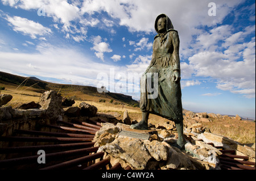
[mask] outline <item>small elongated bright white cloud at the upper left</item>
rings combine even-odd
[[[52,33],[51,29],[44,27],[42,24],[19,16],[11,17],[7,15],[6,20],[10,22],[10,26],[13,27],[14,31],[30,35],[32,39],[36,39],[38,35],[42,36]]]

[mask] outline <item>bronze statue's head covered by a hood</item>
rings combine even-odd
[[[155,20],[155,31],[159,34],[170,29],[174,29],[170,18],[165,14],[160,14]]]

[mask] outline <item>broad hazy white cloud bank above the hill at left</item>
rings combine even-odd
[[[125,70],[121,66],[106,65],[89,60],[75,47],[55,47],[48,43],[37,46],[39,53],[0,52],[0,71],[26,73],[40,77],[69,80],[67,83],[97,86],[97,74],[109,74],[111,68]],[[79,66],[77,66],[79,65]],[[73,74],[69,74],[73,72]]]

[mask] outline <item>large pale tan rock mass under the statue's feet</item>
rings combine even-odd
[[[158,136],[151,136],[150,140],[141,140],[121,136],[118,133],[129,128],[129,125],[118,123],[117,125],[103,123],[100,131],[96,133],[94,146],[101,146],[98,151],[104,151],[105,157],[111,158],[111,163],[119,162],[122,167],[130,166],[133,169],[189,169],[198,168],[218,169],[218,155],[220,151],[211,145],[196,146],[188,141],[187,148],[196,154],[191,157],[189,151],[180,151],[172,146],[176,141],[176,135],[159,140]],[[166,130],[166,129],[165,129]],[[192,149],[194,148],[194,149]],[[217,151],[217,152],[216,152]]]

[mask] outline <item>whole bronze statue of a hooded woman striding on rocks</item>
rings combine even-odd
[[[183,113],[180,88],[179,35],[170,18],[160,14],[155,20],[155,36],[153,54],[150,65],[141,78],[142,120],[131,125],[133,129],[148,129],[150,113],[174,121],[179,138],[177,147],[183,148]],[[154,78],[152,75],[158,75]],[[158,82],[154,82],[158,81]],[[152,85],[157,85],[152,92]],[[156,96],[152,96],[152,94]]]

